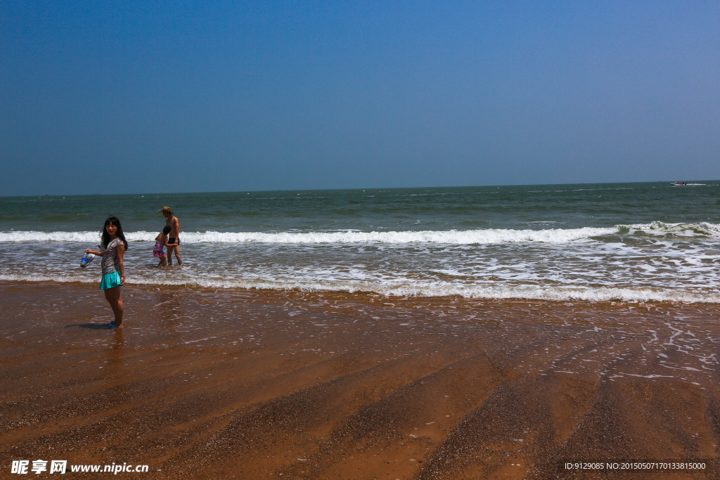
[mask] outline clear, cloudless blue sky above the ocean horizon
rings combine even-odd
[[[0,2],[0,195],[717,178],[717,0]]]

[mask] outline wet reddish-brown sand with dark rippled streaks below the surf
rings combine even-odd
[[[148,479],[719,476],[716,305],[123,298],[105,330],[94,285],[0,282],[0,476],[38,458]],[[708,466],[561,468],[690,459]]]

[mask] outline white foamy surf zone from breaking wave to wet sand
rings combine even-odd
[[[153,268],[156,235],[127,234],[135,243],[125,255],[132,283],[720,303],[720,225],[707,222],[546,230],[183,232],[186,264],[171,275]],[[94,283],[99,264],[83,270],[78,262],[82,249],[98,241],[97,232],[0,232],[0,279]],[[43,261],[28,262],[28,255],[42,255]]]

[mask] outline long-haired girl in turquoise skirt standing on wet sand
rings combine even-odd
[[[102,281],[100,289],[105,291],[105,299],[115,315],[114,322],[109,322],[109,328],[122,327],[122,298],[120,286],[125,284],[125,267],[122,265],[122,255],[127,250],[127,240],[122,233],[120,220],[112,215],[105,220],[100,232],[102,243],[100,251],[85,250],[86,253],[102,256]]]

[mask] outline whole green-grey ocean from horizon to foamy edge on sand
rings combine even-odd
[[[99,283],[110,214],[127,284],[720,303],[720,181],[0,197],[0,280]]]

